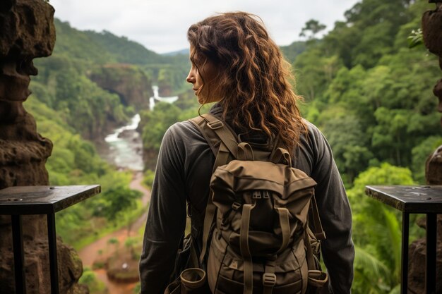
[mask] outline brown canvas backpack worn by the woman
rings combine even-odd
[[[328,280],[318,262],[325,234],[316,182],[282,147],[253,149],[211,114],[190,121],[216,152],[200,255],[211,292],[315,293]]]

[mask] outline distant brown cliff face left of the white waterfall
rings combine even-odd
[[[153,97],[152,83],[137,66],[109,64],[95,68],[90,79],[104,90],[119,95],[125,106],[134,106],[136,111],[148,109],[149,98]]]

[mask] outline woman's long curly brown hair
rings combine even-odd
[[[207,59],[220,68],[217,84],[223,118],[229,113],[237,128],[248,126],[270,137],[279,134],[289,151],[299,145],[306,131],[297,107],[301,97],[294,94],[290,65],[261,18],[245,12],[221,13],[191,25],[187,38],[196,66],[196,59]]]

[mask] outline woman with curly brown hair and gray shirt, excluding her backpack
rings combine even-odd
[[[290,71],[261,21],[249,13],[222,13],[191,25],[191,83],[200,104],[223,118],[241,139],[268,142],[274,134],[287,146],[294,167],[311,176],[327,239],[322,254],[330,293],[350,293],[354,247],[351,212],[332,153],[320,131],[301,118]],[[214,155],[189,121],[167,130],[157,162],[141,255],[141,293],[162,293],[191,207],[193,238],[201,248],[201,219],[209,195]],[[204,266],[204,265],[203,265]]]

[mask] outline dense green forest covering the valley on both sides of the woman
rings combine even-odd
[[[301,113],[327,137],[352,204],[354,293],[395,293],[400,281],[400,249],[395,247],[400,218],[369,200],[364,185],[425,183],[426,158],[442,145],[441,115],[432,93],[441,76],[438,61],[423,46],[410,49],[407,42],[420,27],[422,13],[434,8],[427,2],[362,0],[323,37],[317,37],[323,25],[309,20],[304,41],[281,47],[293,66],[294,89],[304,97]],[[160,86],[160,95],[179,95],[174,104],[141,111],[143,151],[152,169],[167,128],[196,116],[199,106],[184,80],[186,54],[160,55],[112,32],[81,32],[60,20],[55,25],[54,54],[35,62],[40,73],[32,78],[33,94],[25,107],[40,133],[54,142],[47,162],[51,183],[101,183],[104,191],[100,200],[58,216],[59,231],[70,238],[72,226],[85,226],[90,216],[121,218],[120,209],[133,208],[137,197],[127,188],[128,174],[100,159],[93,141],[129,121],[138,106],[100,87],[92,76],[125,75],[118,80],[143,80],[149,87]],[[120,71],[112,72],[116,68]],[[119,202],[124,205],[116,207]],[[412,228],[412,235],[422,231]]]

